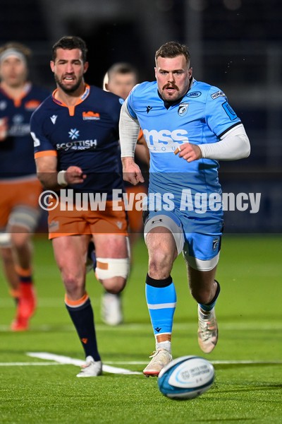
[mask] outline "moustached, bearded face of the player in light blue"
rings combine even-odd
[[[192,68],[188,67],[183,55],[158,57],[155,75],[161,97],[168,102],[174,102],[187,93]]]

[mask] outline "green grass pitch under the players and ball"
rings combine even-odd
[[[154,350],[145,302],[147,251],[142,238],[134,249],[133,269],[123,293],[121,326],[102,324],[102,287],[94,273],[87,274],[104,364],[140,374],[104,372],[102,377],[78,379],[78,366],[27,355],[44,352],[83,360],[63,304],[51,243],[47,236],[35,237],[38,309],[25,333],[8,329],[15,306],[0,271],[0,423],[282,423],[281,247],[281,235],[223,237],[217,272],[219,343],[209,355],[197,346],[197,307],[188,291],[184,261],[178,257],[172,272],[178,294],[173,357],[207,358],[214,363],[216,379],[197,399],[173,401],[159,392],[156,378],[141,374]]]

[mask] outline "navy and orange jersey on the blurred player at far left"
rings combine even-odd
[[[27,83],[22,98],[15,101],[0,88],[0,119],[8,121],[8,136],[0,141],[0,179],[36,175],[30,117],[49,95],[45,88]]]

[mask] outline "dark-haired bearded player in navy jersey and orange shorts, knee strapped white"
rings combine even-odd
[[[57,88],[32,114],[31,134],[39,180],[56,192],[50,200],[49,238],[66,289],[66,308],[85,351],[78,377],[96,377],[102,374],[102,360],[85,288],[90,237],[97,255],[95,273],[106,290],[120,293],[129,271],[125,207],[123,201],[115,207],[113,197],[115,190],[123,192],[118,141],[123,100],[85,83],[87,47],[80,37],[62,37],[52,53]],[[65,194],[76,199],[73,204],[63,204]],[[88,200],[83,208],[82,196]],[[95,210],[93,198],[99,196],[102,204]]]

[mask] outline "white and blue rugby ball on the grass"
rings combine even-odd
[[[214,382],[214,367],[200,356],[181,356],[166,365],[158,377],[158,386],[170,399],[193,399]]]

